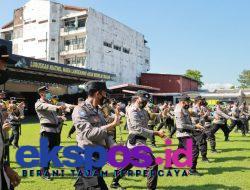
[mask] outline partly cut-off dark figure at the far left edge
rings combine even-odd
[[[21,178],[9,166],[9,163],[4,162],[4,136],[3,132],[8,131],[11,125],[3,118],[2,106],[0,105],[0,189],[11,190],[20,184]]]

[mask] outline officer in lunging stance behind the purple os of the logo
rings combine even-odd
[[[127,147],[134,148],[136,146],[145,146],[147,138],[151,138],[153,135],[161,138],[165,137],[163,131],[153,131],[148,129],[149,116],[144,109],[150,99],[150,95],[146,91],[139,90],[134,97],[132,97],[131,105],[127,111],[127,125],[128,125],[128,141]],[[147,176],[147,189],[155,190],[157,188],[157,171],[158,165],[155,163],[155,157],[150,154],[153,162],[148,170],[154,172],[155,175]],[[132,158],[136,159],[136,158]],[[113,178],[111,188],[120,188],[119,180],[133,167],[132,164],[127,165],[124,168],[118,170],[117,176]]]

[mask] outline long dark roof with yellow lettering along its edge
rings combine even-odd
[[[1,45],[11,47],[12,42],[0,39]],[[78,85],[89,80],[107,81],[115,77],[115,75],[106,72],[15,55],[11,51],[8,54],[8,60],[1,63],[3,66],[0,67],[0,74],[4,73],[9,79]]]

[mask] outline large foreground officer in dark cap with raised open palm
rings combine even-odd
[[[116,110],[114,121],[107,124],[99,109],[99,106],[103,105],[104,100],[107,98],[105,82],[89,81],[85,86],[88,97],[81,105],[76,106],[72,114],[73,124],[76,128],[77,144],[83,149],[85,146],[94,145],[109,148],[112,144],[110,144],[108,133],[120,123],[119,108]],[[94,156],[94,159],[95,158]],[[95,169],[101,170],[101,168]],[[81,176],[77,179],[75,188],[76,190],[108,190],[102,176],[92,176],[88,178]]]

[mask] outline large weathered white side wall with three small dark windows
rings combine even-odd
[[[120,22],[90,8],[86,23],[87,64],[89,69],[115,74],[116,81],[108,85],[136,83],[142,72],[147,72],[150,59],[149,48],[145,48],[144,36]],[[112,44],[112,48],[103,42]],[[124,53],[113,48],[117,45],[127,48],[130,53]]]

